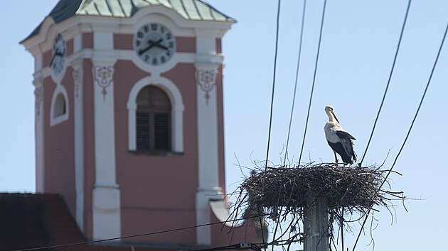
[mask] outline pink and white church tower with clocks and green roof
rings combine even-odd
[[[36,191],[61,194],[88,240],[197,225],[123,241],[254,240],[253,225],[209,224],[227,217],[233,23],[203,0],[60,0],[21,42],[35,59]]]

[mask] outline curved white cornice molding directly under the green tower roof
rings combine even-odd
[[[140,26],[149,21],[158,21],[170,25],[176,36],[193,37],[215,36],[222,38],[230,29],[233,22],[219,21],[191,21],[184,19],[179,13],[164,6],[147,6],[139,10],[131,18],[110,16],[73,16],[60,23],[55,23],[48,16],[42,23],[40,33],[32,38],[21,41],[26,50],[33,55],[36,46],[46,51],[51,48],[51,42],[56,34],[62,33],[65,40],[69,40],[80,33],[111,32],[111,33],[134,33]],[[213,34],[213,35],[212,35]],[[34,51],[34,52],[33,52]]]

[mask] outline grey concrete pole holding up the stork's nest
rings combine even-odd
[[[309,196],[304,208],[304,251],[329,251],[329,203]]]

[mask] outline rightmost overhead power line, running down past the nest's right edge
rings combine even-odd
[[[381,185],[378,187],[378,190],[381,189],[381,187],[384,185],[384,183],[385,183],[386,180],[388,179],[389,174],[392,172],[393,167],[395,167],[395,164],[397,163],[398,157],[400,156],[400,154],[401,154],[403,148],[405,147],[405,144],[406,144],[406,142],[407,142],[407,138],[409,138],[410,132],[411,132],[412,127],[414,126],[414,123],[415,123],[415,119],[417,118],[417,115],[418,115],[418,113],[419,113],[419,111],[420,111],[420,108],[422,107],[423,100],[425,99],[425,96],[426,96],[426,92],[427,92],[427,90],[428,90],[428,87],[430,87],[430,83],[431,83],[431,79],[432,79],[432,74],[434,74],[434,69],[435,69],[435,67],[437,66],[437,62],[439,61],[440,52],[442,51],[442,48],[443,48],[443,45],[444,45],[445,38],[447,38],[447,31],[448,31],[448,23],[447,23],[447,28],[445,28],[445,33],[444,33],[443,38],[442,38],[442,43],[440,43],[439,52],[437,52],[437,57],[436,57],[436,59],[435,59],[434,65],[432,66],[432,70],[431,70],[430,78],[428,79],[428,82],[427,82],[427,84],[426,84],[425,91],[423,91],[422,99],[420,99],[420,104],[418,105],[417,111],[415,112],[415,116],[414,116],[414,118],[412,119],[412,123],[411,123],[411,125],[410,125],[410,127],[409,127],[409,130],[407,130],[406,138],[405,138],[405,140],[403,141],[403,143],[402,143],[402,145],[401,145],[401,147],[400,147],[400,150],[398,151],[398,154],[397,154],[397,156],[395,157],[395,160],[393,161],[392,167],[390,167],[388,174],[386,174],[386,176],[385,176],[385,178],[384,178],[384,180],[383,180],[383,183],[381,183]],[[363,221],[363,225],[361,225],[361,230],[360,230],[360,232],[358,233],[358,237],[356,238],[355,245],[353,246],[353,251],[355,250],[356,244],[358,243],[358,240],[359,240],[359,237],[360,237],[360,235],[361,235],[361,232],[362,232],[362,230],[363,230],[363,228],[364,228],[364,225],[366,225],[366,221],[367,221],[367,218],[368,218],[368,215],[369,215],[370,211],[371,211],[371,209],[369,208],[369,210],[368,210],[367,213],[366,213],[366,218],[365,218],[364,221]]]

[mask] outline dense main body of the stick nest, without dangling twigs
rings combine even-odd
[[[252,172],[242,187],[256,206],[304,207],[309,196],[326,197],[329,207],[383,204],[379,190],[383,171],[363,167],[316,164],[300,168],[267,168]]]

